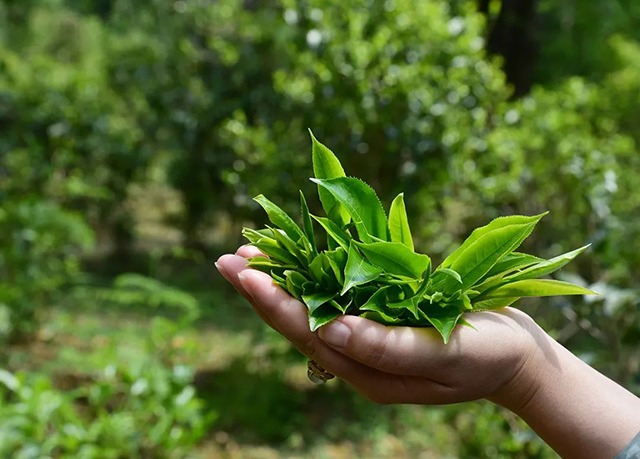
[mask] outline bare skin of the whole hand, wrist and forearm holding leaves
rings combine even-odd
[[[468,314],[447,345],[433,329],[342,316],[309,330],[306,307],[247,268],[243,246],[216,266],[307,357],[380,404],[487,399],[522,417],[563,458],[613,458],[640,431],[640,399],[512,308]]]

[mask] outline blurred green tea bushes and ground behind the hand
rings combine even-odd
[[[253,196],[313,195],[307,127],[436,262],[503,214],[592,243],[601,297],[521,307],[640,395],[637,1],[2,0],[0,456],[556,457],[313,386],[218,275]]]

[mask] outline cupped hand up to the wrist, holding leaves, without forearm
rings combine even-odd
[[[345,315],[309,330],[307,309],[269,275],[247,268],[251,246],[222,256],[220,273],[269,326],[377,403],[448,404],[489,398],[525,404],[544,332],[516,309],[465,315],[448,344],[432,328],[385,326]],[[517,395],[515,395],[517,394]]]

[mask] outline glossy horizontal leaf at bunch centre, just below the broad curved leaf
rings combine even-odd
[[[372,264],[382,268],[386,274],[422,279],[424,272],[431,267],[431,259],[427,255],[415,253],[399,242],[354,243]]]

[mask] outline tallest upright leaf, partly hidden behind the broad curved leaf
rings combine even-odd
[[[318,140],[309,129],[311,134],[313,173],[317,179],[332,179],[344,177],[344,169],[340,161],[326,146],[318,142]],[[335,222],[339,227],[343,227],[349,223],[349,212],[340,205],[340,203],[327,190],[318,187],[318,196],[322,203],[322,208],[327,213],[329,219]]]

